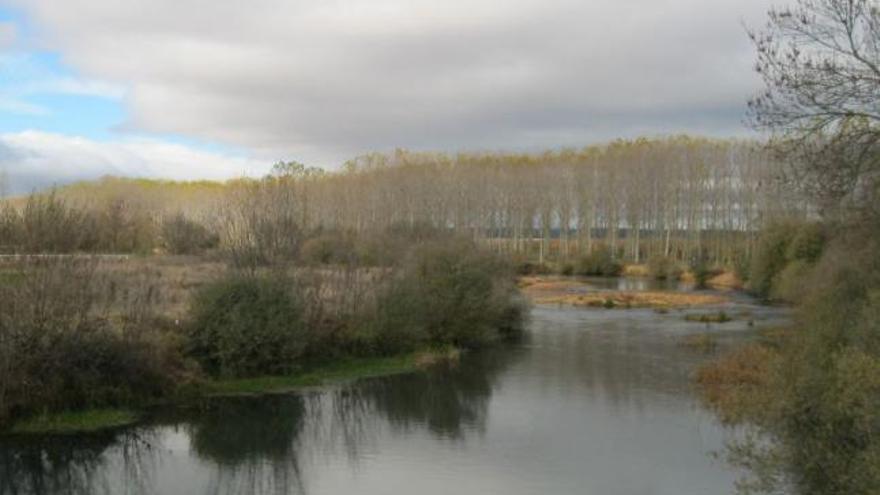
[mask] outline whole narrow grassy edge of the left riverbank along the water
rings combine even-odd
[[[0,431],[0,435],[69,435],[112,430],[136,424],[150,407],[173,406],[219,397],[290,394],[310,388],[414,373],[432,366],[455,364],[459,356],[460,351],[456,348],[428,349],[398,356],[344,359],[291,375],[198,381],[182,386],[177,394],[161,403],[145,403],[138,408],[95,408],[40,414],[14,422],[9,429]]]

